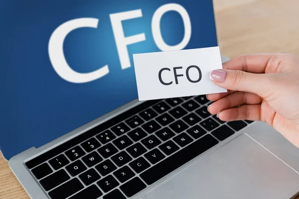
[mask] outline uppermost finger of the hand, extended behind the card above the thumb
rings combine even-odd
[[[251,73],[275,73],[281,61],[288,54],[250,54],[242,55],[223,64],[223,69]]]

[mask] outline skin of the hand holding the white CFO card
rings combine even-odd
[[[210,94],[208,111],[224,121],[261,120],[299,147],[299,58],[292,54],[243,55],[223,64],[213,81],[228,93]],[[222,81],[222,80],[221,80]]]

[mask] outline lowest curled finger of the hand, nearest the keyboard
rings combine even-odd
[[[229,108],[222,110],[217,114],[219,119],[223,121],[235,121],[235,120],[261,120],[261,105],[241,105],[239,107]]]

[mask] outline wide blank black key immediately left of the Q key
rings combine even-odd
[[[58,185],[61,185],[62,183],[66,182],[70,179],[70,176],[63,170],[59,170],[50,176],[42,179],[39,181],[41,186],[44,188],[45,191],[49,191],[53,189],[54,187],[57,187]]]

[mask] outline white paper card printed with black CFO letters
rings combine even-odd
[[[139,100],[225,93],[210,72],[222,69],[219,47],[134,54]]]

